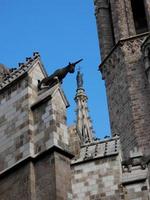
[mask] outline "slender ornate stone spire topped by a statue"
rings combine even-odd
[[[77,90],[75,101],[77,104],[77,133],[79,134],[82,144],[91,143],[94,141],[94,133],[92,122],[88,114],[88,97],[86,96],[85,90],[83,88],[83,74],[81,74],[80,71],[77,73],[76,80]]]

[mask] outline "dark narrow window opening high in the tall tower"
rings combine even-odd
[[[135,30],[137,34],[148,31],[145,7],[143,0],[131,0]]]

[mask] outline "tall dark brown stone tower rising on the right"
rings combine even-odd
[[[95,0],[112,135],[124,157],[134,147],[150,149],[150,1]]]

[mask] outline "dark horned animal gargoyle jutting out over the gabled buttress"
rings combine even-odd
[[[83,59],[78,60],[77,62],[70,63],[61,69],[57,69],[52,75],[42,79],[41,81],[38,80],[38,89],[41,90],[42,86],[44,87],[53,87],[57,83],[62,83],[63,79],[68,73],[74,73],[75,66]]]

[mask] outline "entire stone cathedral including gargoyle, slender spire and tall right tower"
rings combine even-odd
[[[0,64],[0,200],[150,200],[150,1],[94,0],[111,137],[96,138],[83,74],[76,123],[40,54]]]

